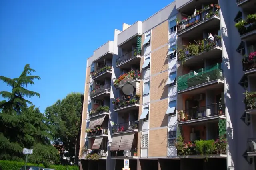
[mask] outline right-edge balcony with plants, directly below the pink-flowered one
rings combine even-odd
[[[256,92],[245,92],[245,112],[247,114],[256,114]]]

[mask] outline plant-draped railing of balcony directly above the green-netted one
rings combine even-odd
[[[221,45],[221,37],[218,35],[214,35],[211,38],[203,39],[202,41],[198,41],[197,44],[187,45],[186,48],[178,51],[178,61],[181,59],[185,59],[192,55],[198,55],[198,53],[209,51],[212,47]]]

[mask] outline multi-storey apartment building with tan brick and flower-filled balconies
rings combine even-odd
[[[88,58],[80,170],[254,170],[256,1],[176,0]]]

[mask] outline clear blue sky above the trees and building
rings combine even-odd
[[[114,39],[122,23],[144,21],[172,0],[1,0],[0,75],[25,64],[41,77],[29,90],[43,112],[70,92],[84,92],[87,58]],[[0,82],[0,91],[10,90]],[[0,98],[2,100],[3,98]]]

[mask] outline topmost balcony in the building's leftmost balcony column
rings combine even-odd
[[[105,78],[111,78],[112,66],[104,66],[97,71],[91,73],[92,80],[104,80]]]

